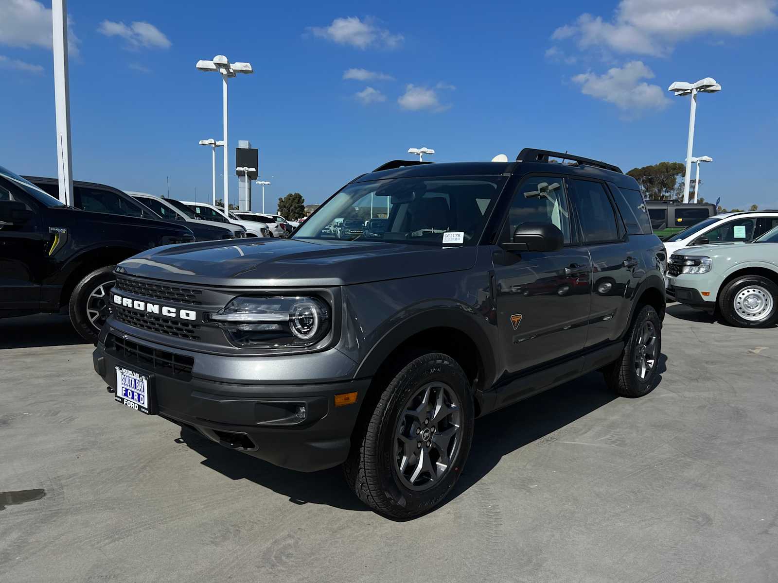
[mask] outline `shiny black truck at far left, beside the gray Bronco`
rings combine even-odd
[[[75,197],[93,208],[85,211],[0,167],[0,317],[67,307],[75,330],[94,342],[110,312],[116,264],[195,240],[184,225],[145,218],[138,204],[102,197],[88,184],[74,183]]]

